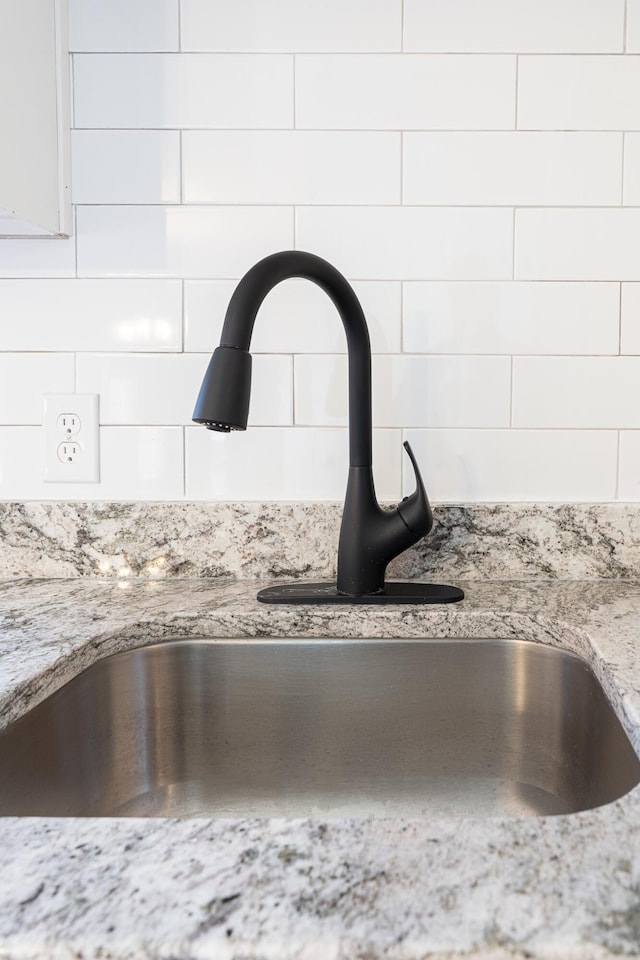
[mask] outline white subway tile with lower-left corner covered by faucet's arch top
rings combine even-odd
[[[511,278],[513,214],[463,207],[301,207],[296,244],[358,279]]]

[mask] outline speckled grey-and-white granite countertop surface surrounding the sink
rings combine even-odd
[[[439,608],[267,607],[255,582],[0,583],[0,715],[186,636],[519,637],[586,658],[640,747],[640,583]],[[0,958],[640,956],[640,788],[511,820],[0,819]]]

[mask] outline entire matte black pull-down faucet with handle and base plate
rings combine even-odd
[[[289,250],[260,260],[231,297],[220,346],[205,373],[193,412],[196,423],[228,433],[246,430],[251,391],[249,346],[253,324],[269,291],[282,280],[313,280],[338,309],[349,354],[349,479],[340,528],[337,584],[293,583],[260,591],[271,603],[451,603],[464,594],[456,587],[385,583],[394,557],[424,537],[433,515],[408,443],[416,490],[393,510],[376,499],[372,469],[371,346],[362,307],[335,267],[311,253]]]

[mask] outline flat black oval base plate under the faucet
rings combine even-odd
[[[282,586],[267,587],[258,593],[261,603],[458,603],[463,599],[464,591],[459,587],[416,583],[412,580],[392,581],[385,584],[381,593],[359,596],[338,593],[335,583],[284,583]]]

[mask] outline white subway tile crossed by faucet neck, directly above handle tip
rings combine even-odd
[[[508,357],[373,358],[376,427],[507,427]],[[347,358],[295,358],[295,422],[347,423]]]

